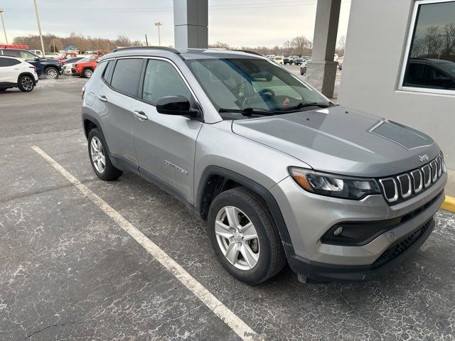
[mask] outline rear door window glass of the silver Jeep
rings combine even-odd
[[[115,90],[136,96],[142,72],[142,59],[119,59],[112,75],[111,86]]]

